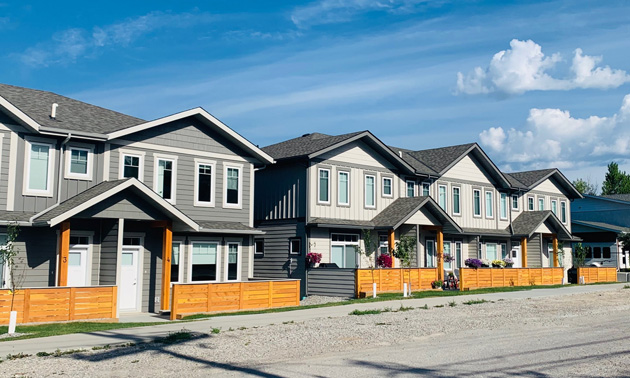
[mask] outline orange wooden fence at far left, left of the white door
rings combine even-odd
[[[0,321],[9,323],[11,291],[0,290]],[[49,287],[15,292],[18,323],[116,319],[116,286]]]

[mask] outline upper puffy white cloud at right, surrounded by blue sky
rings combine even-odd
[[[626,71],[609,66],[597,67],[602,57],[574,51],[571,77],[554,78],[549,71],[562,59],[560,54],[545,56],[542,47],[532,40],[510,41],[510,49],[494,54],[488,68],[475,67],[464,75],[457,73],[457,93],[507,95],[528,91],[570,90],[576,88],[616,88],[630,82]]]

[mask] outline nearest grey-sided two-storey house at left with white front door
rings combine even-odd
[[[171,283],[253,277],[271,163],[201,108],[145,121],[0,85],[0,238],[20,226],[25,287],[118,285],[119,311],[156,312]]]

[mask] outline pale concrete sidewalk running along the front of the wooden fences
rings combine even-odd
[[[522,300],[528,298],[544,298],[559,295],[572,295],[593,293],[602,291],[618,290],[624,286],[620,284],[610,285],[586,285],[567,286],[555,289],[534,289],[526,291],[514,291],[492,294],[472,294],[457,297],[435,297],[422,299],[392,300],[383,302],[356,303],[345,306],[321,307],[305,310],[265,313],[256,315],[233,315],[221,316],[193,322],[169,322],[163,325],[153,325],[138,328],[126,328],[111,331],[101,331],[93,333],[78,333],[61,336],[50,336],[28,340],[3,341],[0,342],[0,356],[15,353],[35,354],[37,352],[54,352],[57,349],[89,349],[94,346],[114,345],[121,343],[141,343],[149,342],[158,337],[168,336],[169,333],[187,329],[197,332],[210,332],[213,328],[229,329],[239,327],[262,327],[270,324],[279,324],[285,321],[304,322],[317,318],[347,316],[353,310],[368,309],[396,309],[401,305],[406,307],[422,307],[446,305],[449,302],[467,302],[473,299],[485,299],[487,301]],[[155,321],[155,320],[152,320]],[[19,327],[18,327],[19,331]]]

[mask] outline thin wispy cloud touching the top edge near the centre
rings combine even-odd
[[[296,8],[291,21],[299,28],[308,28],[348,22],[366,12],[410,13],[428,3],[429,0],[320,0]]]

